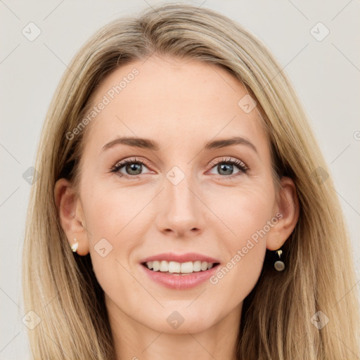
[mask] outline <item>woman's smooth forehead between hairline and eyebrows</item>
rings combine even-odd
[[[249,97],[219,65],[158,56],[134,61],[114,70],[93,94],[91,105],[101,110],[86,142],[103,146],[117,136],[139,136],[167,150],[229,136],[266,142],[257,108],[241,107]]]

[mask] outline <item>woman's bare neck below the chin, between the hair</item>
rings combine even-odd
[[[241,309],[242,303],[198,333],[184,328],[182,333],[167,333],[149,328],[115,304],[108,304],[116,360],[236,360]]]

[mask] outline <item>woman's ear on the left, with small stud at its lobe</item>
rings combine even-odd
[[[72,187],[70,181],[59,179],[55,184],[54,195],[59,210],[60,224],[70,246],[75,243],[76,238],[79,243],[77,253],[86,255],[89,252],[89,240],[79,194]]]

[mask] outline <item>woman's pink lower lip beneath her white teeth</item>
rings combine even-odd
[[[213,266],[209,270],[205,271],[196,271],[189,274],[167,274],[161,271],[153,271],[148,269],[147,266],[140,265],[146,274],[153,280],[155,283],[160,283],[160,285],[165,286],[165,288],[174,289],[174,290],[186,290],[195,288],[195,286],[200,285],[207,281],[210,276],[214,275],[217,271],[219,264]]]

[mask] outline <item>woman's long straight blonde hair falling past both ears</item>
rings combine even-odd
[[[257,101],[271,143],[274,180],[290,176],[300,218],[283,246],[286,269],[266,257],[245,298],[238,359],[359,359],[359,301],[349,233],[326,161],[281,66],[243,27],[208,8],[161,4],[105,25],[63,75],[41,133],[23,251],[25,312],[34,359],[113,360],[103,290],[90,255],[72,253],[53,195],[61,177],[79,181],[85,129],[75,129],[96,86],[115,68],[153,53],[219,65]],[[321,311],[321,312],[318,312]],[[327,322],[328,321],[328,322]],[[319,326],[319,323],[322,325]]]

